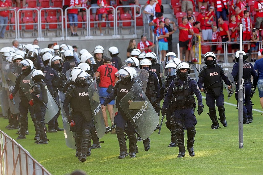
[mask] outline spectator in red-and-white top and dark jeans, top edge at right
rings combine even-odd
[[[221,16],[222,19],[226,21],[227,14],[228,14],[229,1],[228,0],[212,0],[211,5],[215,7],[216,19],[218,20]]]

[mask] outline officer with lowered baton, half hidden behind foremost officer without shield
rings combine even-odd
[[[176,77],[176,64],[175,63],[168,63],[165,66],[164,74],[166,76],[165,83],[160,89],[159,96],[154,100],[152,103],[153,105],[156,105],[157,102],[160,102],[162,99],[165,99],[166,93],[168,91],[168,87],[172,80]],[[168,145],[168,147],[175,147],[177,146],[177,138],[176,138],[176,128],[175,128],[175,122],[172,116],[171,106],[170,103],[168,103],[168,107],[166,108],[166,127],[171,131],[171,142]]]

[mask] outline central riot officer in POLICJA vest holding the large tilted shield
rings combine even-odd
[[[116,125],[116,135],[119,141],[120,154],[119,159],[123,159],[124,157],[130,155],[130,157],[136,157],[136,135],[135,128],[131,124],[131,121],[128,120],[125,112],[122,110],[120,106],[120,100],[129,92],[132,88],[133,84],[138,81],[135,79],[137,75],[132,71],[132,67],[124,67],[121,68],[118,72],[116,72],[116,76],[119,77],[119,80],[115,83],[113,91],[106,98],[101,108],[105,109],[106,105],[111,102],[111,100],[116,98],[116,107],[118,108],[118,114],[114,117],[114,124]],[[125,130],[125,125],[127,123],[127,130]],[[124,130],[129,138],[129,154],[127,153],[127,146],[125,141]]]

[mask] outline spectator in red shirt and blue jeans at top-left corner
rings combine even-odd
[[[9,9],[11,8],[9,1],[0,1],[0,38],[5,38],[6,24],[8,23]]]

